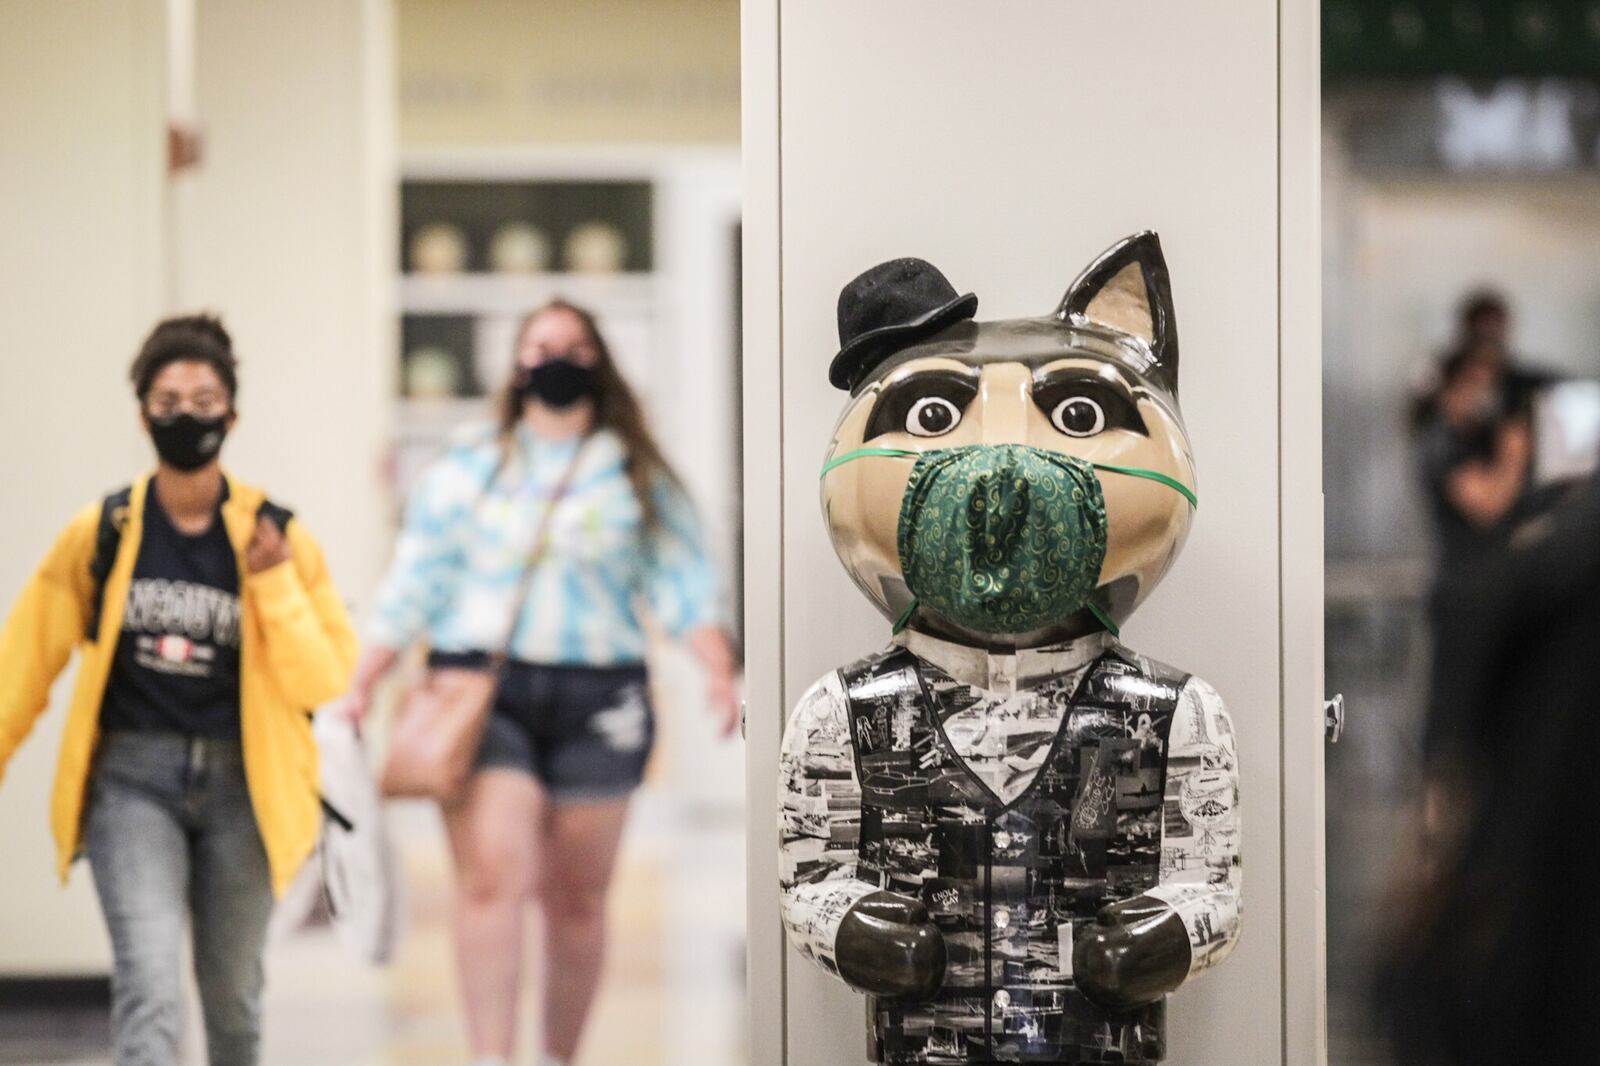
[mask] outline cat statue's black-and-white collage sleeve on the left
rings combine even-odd
[[[778,768],[778,879],[789,943],[838,973],[845,914],[877,884],[856,877],[861,781],[838,674],[813,685],[784,730]]]

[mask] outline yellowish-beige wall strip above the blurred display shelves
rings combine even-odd
[[[738,0],[400,0],[400,142],[739,139]]]

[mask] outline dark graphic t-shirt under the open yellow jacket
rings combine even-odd
[[[221,503],[189,536],[146,495],[101,728],[238,736],[238,560]]]

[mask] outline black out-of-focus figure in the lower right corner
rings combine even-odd
[[[1414,1066],[1600,1061],[1594,760],[1600,479],[1440,575],[1421,863],[1395,871],[1378,1010]]]

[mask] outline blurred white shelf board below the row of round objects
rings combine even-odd
[[[656,275],[619,274],[405,274],[400,309],[408,315],[525,315],[568,299],[602,317],[651,314]]]

